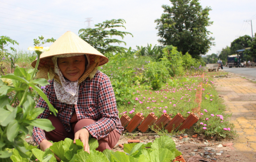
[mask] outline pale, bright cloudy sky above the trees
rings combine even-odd
[[[252,36],[256,33],[256,1],[255,0],[200,0],[203,8],[210,7],[210,21],[214,23],[207,27],[215,38],[208,55],[221,51],[239,36]],[[78,35],[78,30],[88,27],[87,19],[92,17],[90,25],[106,20],[122,18],[126,21],[125,28],[118,28],[133,35],[123,39],[126,46],[136,49],[136,46],[160,45],[157,40],[155,20],[163,14],[162,5],[170,5],[168,0],[0,0],[0,36],[8,36],[19,42],[18,50],[27,50],[33,46],[34,38],[44,36],[57,39],[66,31]],[[245,22],[246,20],[252,20]],[[254,36],[254,34],[253,34]],[[119,37],[121,40],[121,37]],[[50,46],[51,44],[45,44]]]

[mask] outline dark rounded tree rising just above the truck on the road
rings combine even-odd
[[[235,54],[236,50],[251,47],[252,37],[248,35],[240,36],[230,44],[231,54]]]

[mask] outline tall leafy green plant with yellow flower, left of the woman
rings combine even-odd
[[[36,49],[38,58],[42,48]],[[35,101],[29,93],[29,88],[33,88],[43,98],[50,110],[56,115],[54,107],[48,101],[47,96],[36,86],[45,86],[49,83],[45,79],[34,79],[39,59],[35,69],[25,69],[16,66],[14,74],[1,76],[1,79],[9,79],[13,85],[7,86],[0,80],[0,160],[10,161],[13,152],[10,148],[15,148],[16,153],[22,158],[28,158],[29,152],[24,144],[25,135],[32,135],[33,126],[52,131],[54,127],[48,119],[36,119],[44,112],[44,108],[34,108]],[[12,96],[14,94],[14,96]],[[14,104],[18,102],[19,105]],[[21,160],[22,161],[22,160]]]

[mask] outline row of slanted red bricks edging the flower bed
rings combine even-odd
[[[148,114],[145,119],[141,113],[137,113],[132,119],[127,114],[124,114],[120,118],[121,125],[130,133],[134,132],[137,127],[141,132],[147,132],[152,125],[154,125],[155,131],[164,128],[170,133],[178,127],[181,131],[182,129],[189,129],[199,120],[198,116],[194,113],[190,113],[186,119],[180,113],[176,114],[173,119],[170,118],[167,113],[164,113],[158,120],[157,119],[157,116],[153,113]]]

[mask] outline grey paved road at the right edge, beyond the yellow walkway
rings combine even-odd
[[[228,68],[223,67],[225,72],[235,73],[241,77],[247,77],[251,80],[256,80],[256,68]]]

